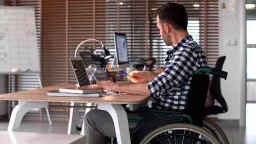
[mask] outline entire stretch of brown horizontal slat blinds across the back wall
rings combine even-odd
[[[218,58],[218,0],[5,0],[5,5],[35,8],[42,82],[49,86],[75,82],[68,57],[74,57],[77,45],[85,39],[102,41],[114,55],[113,32],[126,33],[130,62],[156,58],[155,65],[162,66],[170,47],[160,39],[154,11],[167,2],[185,6],[188,31],[213,67]],[[102,50],[98,42],[89,41],[79,48],[78,56],[90,49]],[[91,61],[90,51],[85,57]],[[51,103],[49,107],[53,121],[67,121],[56,106],[59,104]],[[43,114],[40,117],[41,121],[47,119]]]

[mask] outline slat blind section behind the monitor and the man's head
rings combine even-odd
[[[107,1],[108,45],[114,46],[113,32],[126,33],[131,62],[153,57],[157,60],[156,65],[163,65],[166,51],[170,47],[165,46],[164,41],[160,39],[154,11],[167,2],[176,1]],[[179,0],[177,2],[187,9],[188,32],[203,47],[208,64],[214,67],[218,58],[218,1]]]

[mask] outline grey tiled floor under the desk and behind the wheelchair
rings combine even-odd
[[[255,144],[256,143],[256,128],[254,127],[230,127],[224,121],[219,121],[218,124],[228,136],[229,142],[234,144]],[[20,131],[38,132],[38,133],[57,133],[66,134],[68,123],[59,122],[50,125],[46,122],[22,122]],[[5,131],[8,128],[8,122],[0,122],[0,131]]]

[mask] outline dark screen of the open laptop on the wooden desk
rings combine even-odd
[[[91,85],[82,58],[69,58],[79,87]]]

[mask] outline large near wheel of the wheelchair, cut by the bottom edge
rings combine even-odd
[[[150,132],[139,144],[219,143],[208,131],[192,124],[168,124]]]

